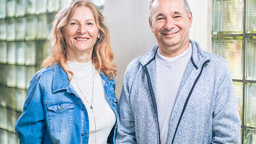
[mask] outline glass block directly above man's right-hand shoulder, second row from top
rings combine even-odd
[[[232,79],[243,78],[243,37],[213,37],[213,53],[228,60]]]

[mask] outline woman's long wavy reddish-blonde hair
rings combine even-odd
[[[104,23],[105,17],[90,0],[72,0],[66,7],[59,10],[52,22],[52,29],[48,39],[52,55],[43,61],[41,68],[50,65],[61,65],[65,72],[71,74],[70,81],[74,74],[66,68],[67,50],[64,38],[64,26],[70,22],[76,7],[89,7],[93,12],[96,26],[100,33],[100,39],[93,46],[92,60],[95,67],[101,74],[105,74],[109,79],[116,76],[116,65],[113,64],[113,51],[110,47],[110,33]]]

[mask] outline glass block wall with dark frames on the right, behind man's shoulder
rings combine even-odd
[[[256,0],[213,0],[212,52],[228,60],[241,144],[256,144]]]

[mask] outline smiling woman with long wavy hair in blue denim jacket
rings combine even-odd
[[[50,47],[15,125],[20,143],[114,144],[116,65],[104,16],[72,0],[54,19]]]

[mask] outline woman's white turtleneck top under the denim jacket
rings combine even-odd
[[[74,73],[71,80],[71,85],[76,90],[76,93],[83,101],[89,116],[89,144],[95,144],[95,122],[96,122],[96,144],[107,144],[108,135],[115,125],[115,112],[110,106],[106,97],[106,92],[102,85],[102,79],[98,72],[95,72],[95,66],[92,61],[89,63],[74,63],[67,61],[67,68]],[[94,75],[94,88],[93,88]],[[69,77],[71,74],[69,74]],[[76,84],[77,83],[77,84]],[[79,90],[80,87],[81,91]],[[94,90],[93,90],[94,89]],[[90,108],[93,90],[93,110]],[[86,102],[88,101],[88,103]],[[92,112],[93,111],[93,112]],[[93,114],[94,113],[94,114]]]

